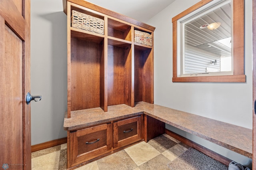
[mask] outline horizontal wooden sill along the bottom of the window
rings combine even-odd
[[[245,83],[246,75],[219,75],[200,77],[172,77],[172,82],[228,82]]]

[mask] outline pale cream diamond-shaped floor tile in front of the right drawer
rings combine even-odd
[[[138,166],[144,164],[145,162],[160,154],[158,150],[156,150],[153,146],[144,141],[130,146],[129,148],[126,148],[124,150]]]

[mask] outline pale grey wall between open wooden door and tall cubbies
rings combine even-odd
[[[31,0],[32,145],[66,137],[67,21],[62,0]]]

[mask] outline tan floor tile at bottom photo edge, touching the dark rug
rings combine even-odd
[[[169,170],[167,164],[170,163],[164,155],[160,154],[148,162],[139,166],[140,170]]]

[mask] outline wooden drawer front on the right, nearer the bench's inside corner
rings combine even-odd
[[[114,148],[141,140],[141,116],[116,121],[113,126]]]

